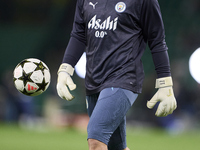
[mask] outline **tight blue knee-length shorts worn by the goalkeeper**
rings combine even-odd
[[[109,150],[123,150],[126,145],[126,113],[138,94],[121,88],[106,88],[86,97],[90,117],[88,139],[108,145]]]

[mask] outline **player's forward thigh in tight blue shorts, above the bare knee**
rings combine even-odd
[[[131,102],[120,88],[104,89],[98,98],[88,124],[88,138],[105,144],[124,120]]]

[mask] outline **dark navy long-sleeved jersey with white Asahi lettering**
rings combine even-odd
[[[157,0],[77,0],[63,63],[86,52],[86,94],[118,87],[141,93],[141,57],[151,50],[158,78],[170,76],[164,25]]]

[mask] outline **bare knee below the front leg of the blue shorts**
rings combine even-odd
[[[89,150],[108,150],[107,145],[95,140],[95,139],[88,139]]]

